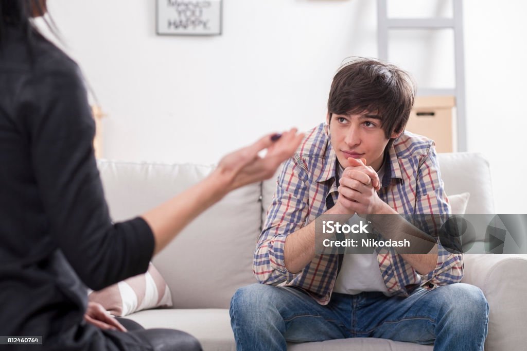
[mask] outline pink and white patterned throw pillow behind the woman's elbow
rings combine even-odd
[[[88,291],[88,300],[101,304],[116,317],[155,307],[171,307],[167,283],[152,262],[145,274],[125,279],[99,291]]]

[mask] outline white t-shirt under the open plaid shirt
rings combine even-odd
[[[337,174],[340,178],[344,169],[338,165]],[[379,180],[384,176],[384,167],[377,172]],[[355,214],[349,221],[350,225],[360,222],[362,218]],[[356,295],[363,291],[380,291],[388,294],[380,274],[379,262],[375,252],[366,254],[344,255],[342,268],[335,282],[333,291],[341,294]]]

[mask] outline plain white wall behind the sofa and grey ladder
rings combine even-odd
[[[155,35],[154,0],[48,2],[109,115],[111,159],[214,163],[262,133],[309,129],[325,118],[343,59],[377,55],[374,0],[224,0],[223,34],[212,37]],[[451,8],[389,3],[394,16]],[[521,0],[464,1],[468,145],[491,163],[498,213],[527,213],[526,10]],[[392,42],[392,60],[420,85],[453,86],[451,34],[397,32]]]

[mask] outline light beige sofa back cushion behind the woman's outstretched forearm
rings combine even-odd
[[[207,165],[98,161],[114,220],[159,205],[205,178]],[[261,184],[237,189],[203,212],[153,262],[175,308],[228,308],[236,289],[252,284],[260,231]]]

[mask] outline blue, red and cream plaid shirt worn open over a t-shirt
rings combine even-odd
[[[400,214],[439,215],[426,216],[430,223],[419,223],[425,232],[437,233],[444,215],[451,210],[443,191],[434,142],[405,132],[388,148],[387,155],[379,198]],[[326,305],[331,297],[338,255],[315,255],[303,270],[292,274],[284,265],[284,245],[290,233],[327,210],[326,197],[333,197],[336,203],[336,162],[329,126],[321,123],[307,133],[294,157],[284,164],[253,258],[253,271],[259,282],[302,288],[321,305]],[[463,276],[462,255],[452,254],[441,245],[437,265],[426,276],[419,275],[393,248],[376,253],[390,295],[408,296],[418,285],[430,289],[458,282]]]

